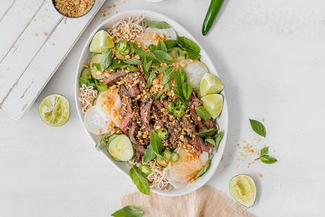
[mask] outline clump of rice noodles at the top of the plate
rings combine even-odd
[[[121,19],[115,23],[108,32],[110,33],[110,36],[115,38],[115,42],[118,42],[121,39],[132,41],[136,37],[142,36],[143,32],[145,32],[146,25],[144,19],[144,14]]]

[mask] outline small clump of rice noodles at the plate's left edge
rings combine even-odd
[[[79,98],[78,100],[82,104],[82,113],[86,113],[88,109],[93,106],[94,100],[97,98],[98,91],[94,89],[93,86],[86,86],[82,84],[82,87],[79,89]]]

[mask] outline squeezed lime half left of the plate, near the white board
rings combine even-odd
[[[61,126],[70,117],[70,104],[67,98],[60,94],[48,95],[38,107],[40,119],[49,126]]]

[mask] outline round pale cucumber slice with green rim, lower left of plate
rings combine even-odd
[[[133,146],[126,135],[118,135],[106,146],[110,156],[117,161],[130,161],[134,155]]]

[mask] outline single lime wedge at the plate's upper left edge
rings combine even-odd
[[[91,40],[89,51],[93,53],[103,53],[106,49],[114,47],[114,41],[110,38],[110,34],[105,30],[100,30]]]

